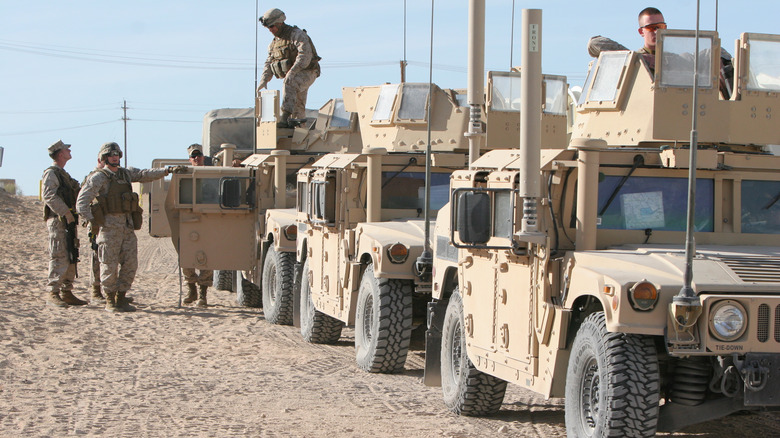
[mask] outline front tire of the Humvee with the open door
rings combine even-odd
[[[294,252],[268,248],[263,261],[263,314],[272,324],[292,325]]]

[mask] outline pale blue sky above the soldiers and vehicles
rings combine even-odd
[[[58,139],[73,145],[66,170],[81,180],[95,165],[101,144],[124,144],[122,102],[127,100],[128,165],[154,158],[183,158],[201,142],[203,115],[215,108],[253,106],[256,5],[279,7],[289,24],[307,29],[322,60],[322,76],[307,107],[339,97],[341,87],[428,81],[431,2],[425,0],[0,0],[0,178],[17,181],[25,195],[51,160]],[[487,0],[486,69],[519,65],[511,54],[512,0]],[[714,0],[702,1],[701,27],[715,28]],[[745,5],[750,5],[750,10]],[[636,15],[652,5],[672,28],[693,29],[694,0],[514,2],[514,49],[520,46],[523,8],[543,10],[543,70],[581,85],[590,61],[588,38],[601,34],[639,48]],[[780,2],[720,1],[722,45],[733,52],[741,32],[780,33]],[[406,14],[404,14],[404,8]],[[467,0],[434,3],[433,81],[466,86]],[[406,31],[404,25],[406,23]],[[271,34],[260,27],[258,59]],[[404,44],[406,41],[406,44]],[[511,61],[511,64],[510,64]],[[269,88],[278,89],[279,80]]]

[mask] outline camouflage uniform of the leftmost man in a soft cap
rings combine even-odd
[[[76,278],[76,265],[70,262],[65,236],[63,218],[71,211],[75,216],[75,200],[79,183],[71,178],[65,169],[53,165],[43,172],[44,219],[49,232],[49,276],[47,287],[49,301],[58,306],[66,306],[65,295],[71,296],[73,280]],[[78,244],[78,243],[77,243]],[[63,297],[60,298],[60,293]],[[54,298],[54,296],[57,298]],[[62,303],[62,304],[60,304]],[[84,302],[85,304],[86,302]],[[81,304],[81,303],[73,303]]]

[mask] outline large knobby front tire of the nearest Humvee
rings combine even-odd
[[[577,330],[566,376],[568,436],[655,436],[660,377],[649,336],[607,331],[604,312]]]

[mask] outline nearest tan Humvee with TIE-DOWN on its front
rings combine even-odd
[[[523,24],[534,101],[541,11]],[[592,63],[568,147],[542,148],[524,102],[519,149],[453,172],[424,379],[453,412],[498,411],[507,382],[565,397],[578,437],[780,406],[780,36],[742,34],[724,99],[718,35],[699,35],[697,105],[695,32],[659,30],[654,77],[630,51]]]

